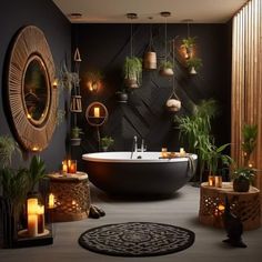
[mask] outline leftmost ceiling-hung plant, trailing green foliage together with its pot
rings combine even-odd
[[[124,83],[125,87],[139,88],[142,81],[142,61],[137,57],[127,57],[124,61]]]

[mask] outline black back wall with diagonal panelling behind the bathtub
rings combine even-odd
[[[168,39],[175,38],[175,87],[182,101],[179,113],[190,113],[192,104],[202,99],[219,101],[221,114],[213,125],[216,143],[230,142],[230,70],[231,70],[231,24],[191,24],[191,37],[196,36],[196,54],[202,58],[203,68],[199,74],[190,75],[179,52],[181,39],[187,37],[187,24],[168,24]],[[134,56],[142,57],[149,42],[149,24],[133,24]],[[130,56],[130,24],[74,24],[72,41],[79,47],[82,63],[80,77],[84,109],[92,101],[103,102],[109,109],[109,120],[100,131],[115,140],[113,150],[131,150],[134,134],[144,138],[149,150],[163,145],[178,150],[178,130],[172,123],[173,115],[164,104],[172,92],[172,81],[154,72],[143,71],[143,84],[130,93],[127,104],[118,103],[114,92],[123,84],[122,67]],[[153,24],[153,42],[158,56],[164,56],[164,24]],[[98,93],[87,90],[83,81],[87,71],[101,70],[104,87]],[[97,151],[95,129],[88,125],[84,114],[78,124],[84,129],[82,148],[75,154]]]

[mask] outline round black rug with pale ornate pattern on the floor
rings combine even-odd
[[[105,224],[82,233],[79,243],[90,251],[119,256],[162,255],[188,249],[194,233],[171,224],[129,222]]]

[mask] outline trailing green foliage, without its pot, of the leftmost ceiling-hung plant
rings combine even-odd
[[[135,79],[140,83],[142,79],[142,60],[137,57],[124,60],[124,79]]]

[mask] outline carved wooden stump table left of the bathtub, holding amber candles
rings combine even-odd
[[[88,174],[48,174],[50,192],[54,195],[53,222],[77,221],[88,218],[90,189]]]

